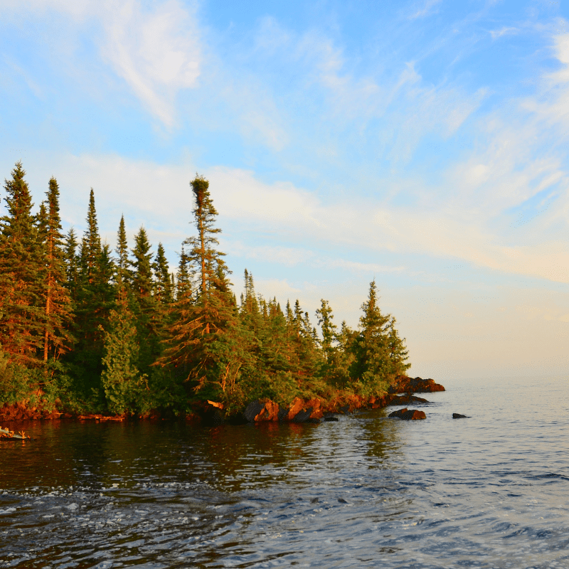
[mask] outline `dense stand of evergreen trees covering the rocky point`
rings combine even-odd
[[[380,395],[405,373],[405,339],[375,280],[357,329],[334,324],[324,299],[313,326],[298,300],[257,294],[247,270],[238,299],[209,183],[196,175],[190,188],[193,235],[171,272],[144,227],[129,245],[124,216],[115,247],[102,243],[92,189],[85,232],[64,234],[57,180],[34,211],[16,163],[0,218],[0,404],[144,416],[215,400],[231,414],[255,398]]]

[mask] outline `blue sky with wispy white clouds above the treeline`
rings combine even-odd
[[[171,267],[210,181],[235,292],[358,326],[375,279],[410,375],[569,371],[569,5],[1,0],[0,176],[65,230],[90,188]],[[2,193],[2,197],[5,193]],[[4,215],[4,201],[0,215]]]

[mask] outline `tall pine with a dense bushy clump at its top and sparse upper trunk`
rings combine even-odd
[[[187,265],[196,292],[192,294],[190,287],[179,289],[167,348],[159,363],[177,368],[194,391],[229,400],[238,391],[242,368],[250,365],[248,340],[228,289],[223,253],[216,249],[220,230],[214,227],[217,211],[209,183],[196,176],[191,187],[198,235],[184,244],[191,248]]]

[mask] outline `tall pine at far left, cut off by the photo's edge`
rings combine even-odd
[[[10,361],[35,366],[45,327],[43,248],[21,162],[11,174],[0,220],[0,344]]]

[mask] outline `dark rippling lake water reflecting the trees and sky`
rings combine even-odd
[[[0,567],[568,568],[567,381],[446,386],[413,422],[18,425]]]

